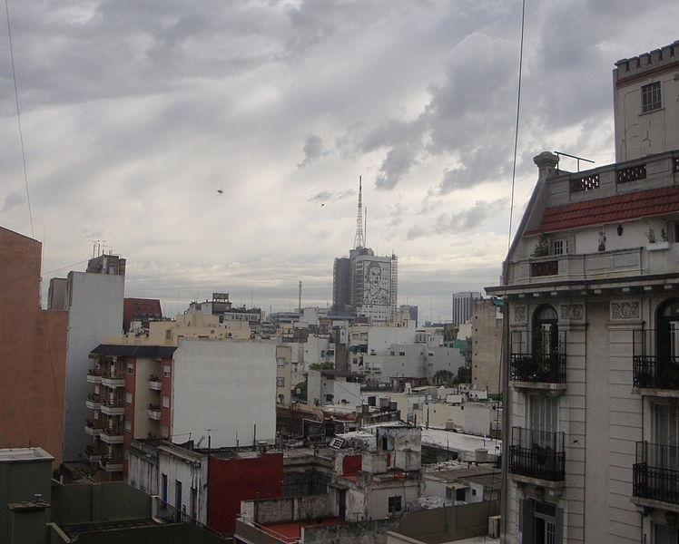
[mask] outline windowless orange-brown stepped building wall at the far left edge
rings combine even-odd
[[[41,446],[56,468],[63,459],[68,316],[40,309],[41,246],[0,227],[0,447]]]

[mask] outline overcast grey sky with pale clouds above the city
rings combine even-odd
[[[166,315],[213,291],[287,310],[300,280],[325,306],[362,175],[400,304],[445,320],[451,293],[497,283],[518,0],[8,2],[45,280],[101,239]],[[30,236],[0,18],[0,225]],[[614,160],[614,63],[677,20],[676,0],[526,0],[515,224],[540,151]]]

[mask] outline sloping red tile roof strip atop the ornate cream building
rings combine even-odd
[[[641,190],[547,208],[540,227],[525,234],[615,223],[674,211],[679,211],[679,186]]]

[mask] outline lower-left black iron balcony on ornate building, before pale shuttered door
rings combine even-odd
[[[564,481],[566,471],[564,442],[563,432],[512,427],[509,472],[512,475],[539,481]]]

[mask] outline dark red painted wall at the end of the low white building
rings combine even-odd
[[[283,496],[283,454],[221,460],[210,457],[208,526],[233,533],[241,500],[280,499]]]

